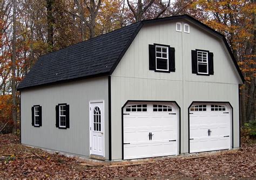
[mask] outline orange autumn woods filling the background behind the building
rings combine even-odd
[[[240,86],[241,124],[255,119],[255,11],[254,1],[157,0],[28,0],[0,1],[0,95],[12,92],[39,56],[99,36],[138,20],[188,14],[225,35],[245,77]],[[15,77],[11,75],[12,49],[16,47]],[[15,109],[18,110],[19,95]],[[9,106],[6,105],[6,107]],[[17,113],[19,114],[19,113]],[[5,116],[5,115],[0,115]],[[10,118],[10,116],[8,117]],[[18,120],[17,117],[14,121]]]

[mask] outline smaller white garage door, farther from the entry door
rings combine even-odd
[[[190,107],[190,153],[231,148],[231,108],[227,104]]]

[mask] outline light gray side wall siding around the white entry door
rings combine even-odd
[[[109,156],[107,77],[69,82],[22,91],[22,143],[82,156],[90,155],[89,101],[104,100],[105,156]],[[70,105],[70,128],[55,126],[55,106]],[[42,127],[31,125],[31,107],[42,106]]]

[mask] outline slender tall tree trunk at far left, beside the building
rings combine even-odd
[[[14,127],[12,133],[17,131],[17,102],[16,102],[16,0],[13,0],[13,37],[12,37],[12,54],[11,54],[11,94],[12,94],[12,121]]]

